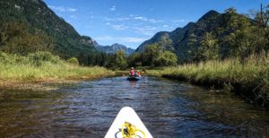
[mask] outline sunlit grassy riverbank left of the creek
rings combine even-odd
[[[0,53],[0,86],[13,82],[58,82],[114,75],[103,67],[67,63],[48,52],[28,56]]]

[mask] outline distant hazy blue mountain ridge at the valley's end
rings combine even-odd
[[[122,49],[126,52],[126,55],[129,56],[131,55],[132,53],[134,53],[134,49],[133,48],[130,48],[130,47],[126,47],[124,45],[121,45],[121,44],[113,44],[111,46],[101,46],[99,45],[95,40],[93,41],[93,45],[94,47],[97,48],[97,50],[101,51],[101,52],[105,52],[105,53],[108,53],[108,54],[114,54],[116,51]]]

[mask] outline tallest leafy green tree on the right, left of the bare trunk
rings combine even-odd
[[[256,48],[253,30],[255,27],[246,15],[237,13],[233,8],[227,9],[225,14],[227,27],[222,32],[223,46],[229,48],[229,56],[249,56]]]

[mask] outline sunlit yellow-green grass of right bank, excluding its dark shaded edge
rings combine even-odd
[[[224,61],[207,61],[199,64],[178,65],[162,70],[150,70],[152,75],[167,75],[194,82],[239,83],[255,91],[269,93],[269,56],[251,56],[244,61],[239,58]]]

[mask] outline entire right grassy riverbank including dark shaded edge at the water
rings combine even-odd
[[[221,87],[265,104],[269,101],[269,56],[251,56],[243,62],[237,59],[207,61],[199,64],[166,67],[147,73]]]

